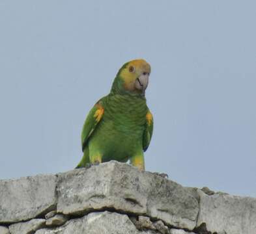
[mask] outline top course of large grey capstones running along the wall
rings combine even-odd
[[[0,180],[0,225],[42,218],[55,209],[71,218],[117,211],[197,233],[206,226],[211,233],[256,234],[256,198],[208,196],[200,189],[182,187],[121,162]]]

